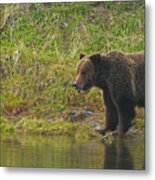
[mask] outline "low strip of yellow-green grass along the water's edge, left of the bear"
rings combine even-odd
[[[22,133],[36,135],[64,135],[75,137],[76,140],[86,141],[92,137],[101,140],[101,135],[91,130],[89,125],[79,122],[68,122],[64,120],[47,121],[46,119],[21,118],[16,123],[8,122],[5,117],[1,118],[0,132]]]

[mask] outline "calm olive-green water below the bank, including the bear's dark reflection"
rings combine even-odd
[[[1,166],[143,170],[144,163],[143,135],[116,138],[111,144],[64,136],[1,137]]]

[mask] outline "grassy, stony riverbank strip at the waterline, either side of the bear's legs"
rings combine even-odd
[[[139,114],[138,114],[139,113]],[[144,133],[145,121],[142,118],[142,110],[137,112],[137,118],[133,121],[133,126],[130,128],[127,135]],[[35,135],[67,135],[75,137],[77,140],[89,140],[92,138],[102,139],[102,136],[97,132],[104,128],[105,120],[103,112],[94,113],[92,111],[78,110],[68,112],[68,119],[36,119],[30,117],[22,117],[18,120],[7,120],[1,118],[0,131],[5,133],[22,133]],[[107,132],[107,137],[112,140],[112,133]]]

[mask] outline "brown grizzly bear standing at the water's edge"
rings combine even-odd
[[[135,106],[145,105],[144,52],[80,54],[73,87],[87,91],[96,86],[103,90],[106,126],[100,131],[114,131],[124,135],[135,117]]]

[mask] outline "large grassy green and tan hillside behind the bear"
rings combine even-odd
[[[1,4],[1,114],[57,120],[103,110],[98,89],[71,84],[80,52],[144,49],[144,2]]]

